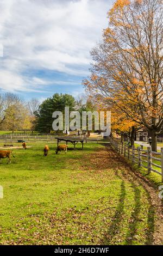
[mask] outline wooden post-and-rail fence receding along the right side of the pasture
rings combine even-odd
[[[110,144],[119,154],[127,157],[128,160],[137,164],[139,167],[146,168],[148,174],[151,172],[161,175],[163,182],[163,148],[161,152],[152,151],[151,147],[147,147],[147,150],[141,147],[131,148],[128,143],[121,142],[120,139],[110,139]]]

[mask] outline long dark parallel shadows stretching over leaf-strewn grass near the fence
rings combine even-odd
[[[106,147],[106,149],[109,152],[109,150],[110,150],[109,147]],[[113,156],[113,157],[115,157],[115,156]],[[120,166],[121,166],[121,164],[122,164],[121,157],[120,156],[118,157],[118,155],[117,155],[117,162],[118,161],[120,162]],[[155,218],[154,218],[155,210],[154,210],[154,206],[152,205],[151,195],[148,192],[143,181],[141,181],[140,179],[137,179],[136,182],[134,182],[134,179],[136,178],[136,173],[133,174],[132,172],[129,172],[127,168],[126,168],[126,172],[127,172],[126,173],[127,175],[124,173],[123,170],[121,170],[121,175],[119,175],[117,171],[115,172],[115,175],[118,176],[118,178],[122,179],[120,201],[117,205],[117,210],[115,212],[113,221],[108,229],[107,234],[105,234],[102,244],[105,244],[105,245],[111,244],[112,240],[114,239],[114,236],[118,233],[118,230],[121,227],[121,223],[123,221],[123,214],[124,214],[124,199],[125,199],[125,195],[126,195],[125,187],[124,187],[124,180],[127,179],[130,182],[130,184],[133,186],[135,197],[134,197],[134,209],[130,216],[128,231],[127,231],[124,243],[126,245],[132,245],[133,241],[135,239],[135,235],[137,233],[137,224],[140,221],[139,215],[140,215],[140,211],[141,211],[141,191],[138,186],[142,186],[146,192],[146,196],[147,196],[148,204],[149,204],[149,208],[148,208],[148,212],[147,212],[147,216],[148,216],[147,217],[147,228],[145,231],[145,236],[146,236],[145,245],[151,245],[153,242],[154,221],[155,221]]]

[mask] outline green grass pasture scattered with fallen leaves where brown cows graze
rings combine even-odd
[[[89,143],[56,155],[49,144],[43,157],[44,144],[30,146],[0,165],[1,244],[153,243],[158,205],[115,153]]]

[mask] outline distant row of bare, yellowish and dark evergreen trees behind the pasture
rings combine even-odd
[[[70,94],[58,94],[48,97],[42,103],[39,99],[33,98],[24,101],[19,95],[5,93],[0,95],[0,129],[38,131],[51,133],[54,111],[61,111],[64,114],[65,107],[70,111],[89,111],[92,103],[87,100],[85,94],[80,94],[76,99]]]

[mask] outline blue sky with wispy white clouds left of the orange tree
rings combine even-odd
[[[0,93],[77,96],[113,0],[0,0]]]

